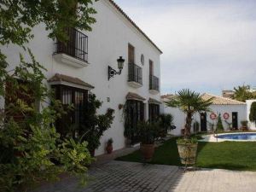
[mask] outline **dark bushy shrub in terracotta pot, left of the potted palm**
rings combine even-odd
[[[148,162],[154,155],[154,139],[157,137],[157,123],[149,121],[138,122],[138,137],[143,159]]]

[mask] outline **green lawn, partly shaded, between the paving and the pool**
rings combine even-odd
[[[180,166],[177,138],[172,138],[155,149],[152,164]],[[138,151],[116,160],[142,162]],[[199,167],[256,171],[256,143],[254,142],[199,142],[197,164]]]

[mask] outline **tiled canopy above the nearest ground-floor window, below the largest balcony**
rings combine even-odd
[[[71,84],[79,84],[79,85],[82,85],[82,86],[85,86],[85,87],[88,87],[88,88],[91,88],[91,89],[94,88],[94,86],[92,86],[91,84],[85,83],[81,79],[73,78],[71,76],[67,76],[67,75],[60,74],[60,73],[55,73],[55,75],[52,78],[50,78],[48,80],[48,82],[49,83],[52,83],[52,82],[67,82],[67,83],[71,83]]]

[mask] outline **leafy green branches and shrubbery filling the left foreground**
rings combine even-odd
[[[36,61],[27,43],[33,38],[32,28],[41,23],[49,38],[63,42],[67,40],[67,27],[91,30],[90,25],[96,22],[92,3],[91,0],[0,2],[1,46],[20,46],[31,58],[25,61],[20,55],[20,64],[10,68],[0,50],[0,98],[6,101],[5,107],[0,108],[0,191],[27,191],[39,182],[57,179],[61,172],[80,176],[82,183],[86,181],[86,166],[92,160],[87,143],[61,139],[55,131],[55,120],[65,112],[43,83],[44,67]],[[20,99],[20,94],[26,99]],[[45,102],[52,105],[42,105],[38,110],[37,103]]]

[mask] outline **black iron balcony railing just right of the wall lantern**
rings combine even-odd
[[[143,84],[143,68],[134,63],[129,63],[128,82],[131,81]]]

